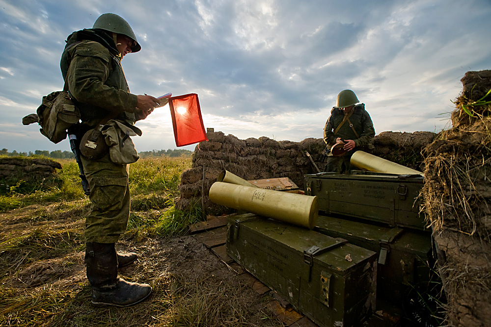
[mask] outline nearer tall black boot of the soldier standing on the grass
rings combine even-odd
[[[87,242],[85,263],[92,289],[92,303],[129,306],[145,300],[152,292],[148,284],[131,283],[118,277],[114,243]]]

